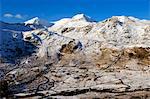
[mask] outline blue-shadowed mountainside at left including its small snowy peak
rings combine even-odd
[[[17,57],[31,53],[35,46],[23,40],[23,32],[42,29],[51,25],[37,17],[24,23],[0,21],[0,56],[6,61],[12,61]],[[33,48],[30,49],[30,47]]]

